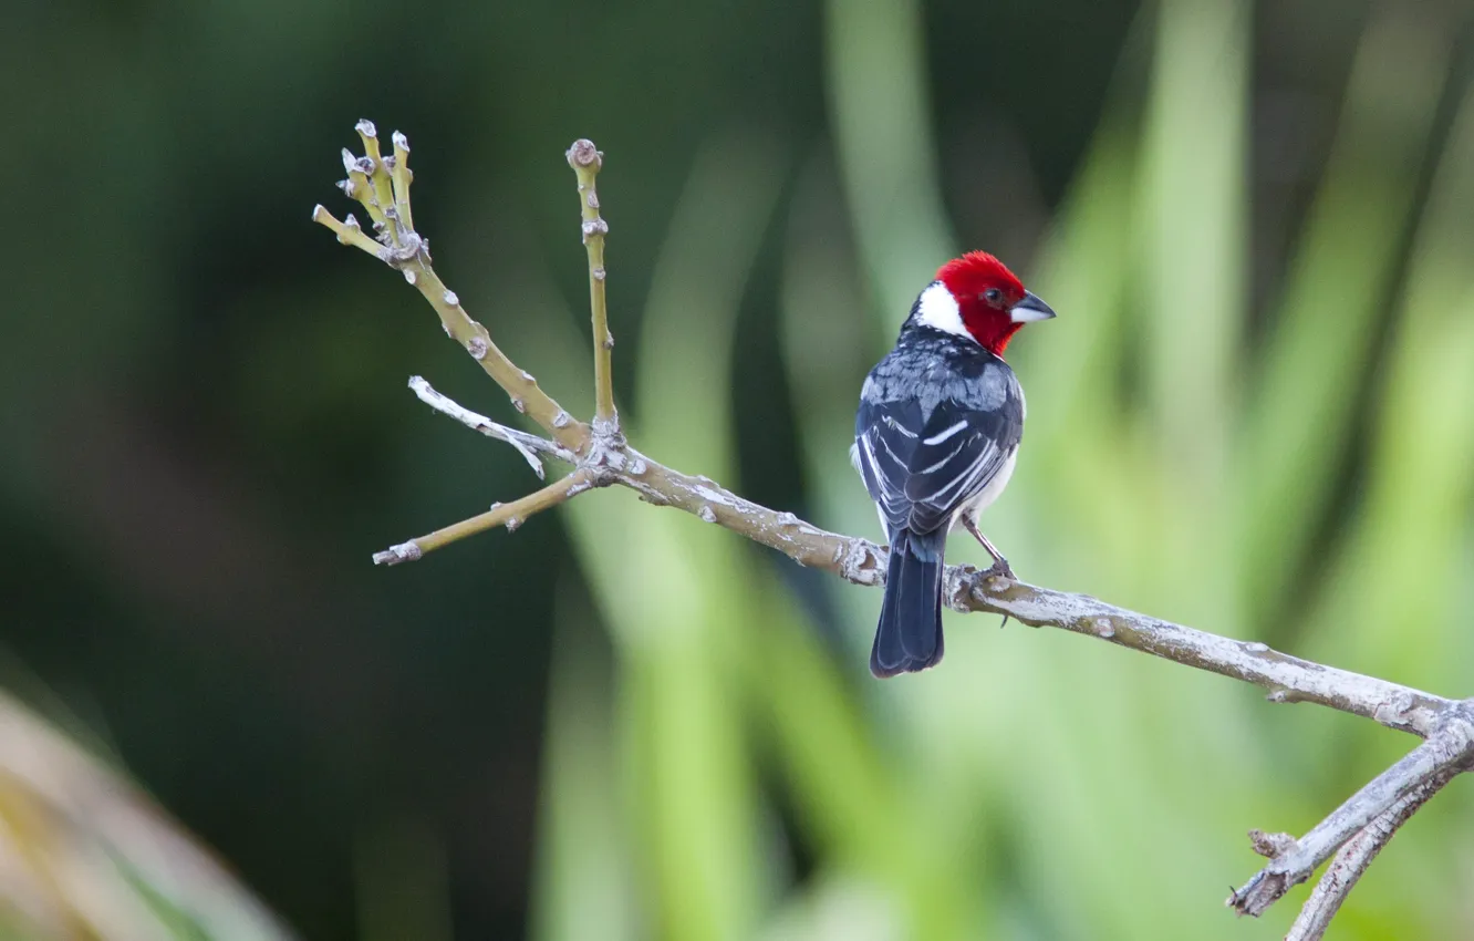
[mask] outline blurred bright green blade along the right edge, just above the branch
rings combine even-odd
[[[1366,503],[1318,617],[1353,670],[1468,687],[1455,608],[1474,497],[1474,93],[1465,96],[1414,245],[1387,354]],[[1467,614],[1467,612],[1465,612]],[[1445,652],[1430,656],[1428,652]]]

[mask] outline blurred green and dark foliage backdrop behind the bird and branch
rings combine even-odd
[[[1021,577],[1470,695],[1470,13],[6,0],[0,934],[1279,937],[1244,830],[1411,737],[982,615],[877,683],[879,591],[624,491],[373,568],[535,481],[308,214],[405,131],[438,270],[587,413],[593,137],[637,444],[865,535],[859,382],[993,251],[1060,311]],[[1332,935],[1474,937],[1470,833],[1455,785]]]

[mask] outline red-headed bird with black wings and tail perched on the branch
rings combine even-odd
[[[886,596],[870,650],[880,678],[942,661],[946,537],[961,524],[1013,578],[977,515],[1004,491],[1023,440],[1023,388],[1004,350],[1054,310],[998,258],[967,252],[936,271],[896,345],[865,378],[850,462],[890,544]]]

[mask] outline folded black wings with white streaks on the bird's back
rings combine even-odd
[[[915,398],[861,401],[855,465],[892,531],[948,525],[1008,463],[1023,437],[1023,400],[1008,386],[996,409],[955,398],[932,409]]]

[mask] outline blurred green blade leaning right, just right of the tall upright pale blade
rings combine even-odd
[[[1417,208],[1447,55],[1431,7],[1384,4],[1362,37],[1281,313],[1246,389],[1235,482],[1244,599],[1256,619],[1302,572],[1368,400],[1366,366]]]

